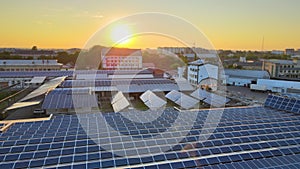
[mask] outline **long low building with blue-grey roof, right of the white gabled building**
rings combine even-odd
[[[223,83],[232,86],[250,86],[256,84],[258,79],[270,79],[267,71],[261,70],[242,70],[225,69],[225,78]]]

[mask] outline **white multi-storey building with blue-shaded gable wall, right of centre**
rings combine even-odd
[[[217,89],[218,66],[205,63],[203,60],[196,60],[188,64],[188,81],[199,87],[208,86],[212,90]]]

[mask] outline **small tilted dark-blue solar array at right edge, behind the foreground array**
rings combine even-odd
[[[300,99],[296,98],[268,95],[265,106],[300,114]]]

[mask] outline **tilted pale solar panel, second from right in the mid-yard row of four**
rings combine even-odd
[[[199,103],[198,100],[176,90],[172,90],[166,94],[166,98],[180,105],[183,109],[191,109]]]

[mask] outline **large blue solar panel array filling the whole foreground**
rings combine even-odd
[[[107,126],[116,130],[110,133],[101,132],[97,125],[87,130],[80,125],[78,118],[91,124],[99,122],[102,115],[97,113],[16,123],[0,133],[0,168],[299,168],[300,116],[267,107],[225,109],[209,139],[199,142],[200,133],[206,133],[203,126],[209,111],[198,112],[195,122],[193,113],[166,109],[148,123],[130,121],[121,113],[105,113]],[[168,138],[143,139],[166,131],[179,117],[185,123],[175,126]],[[194,124],[192,129],[188,124]],[[169,151],[155,153],[184,131],[188,134]],[[98,134],[99,144],[87,132]],[[130,142],[127,136],[141,139]],[[127,155],[107,151],[105,145]]]

